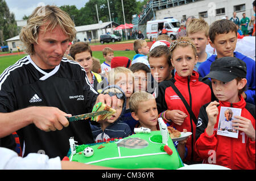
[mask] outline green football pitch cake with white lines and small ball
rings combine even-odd
[[[160,125],[160,123],[159,123]],[[116,169],[178,169],[183,167],[179,154],[166,130],[141,132],[112,142],[75,145],[69,139],[69,161]],[[164,142],[164,143],[163,143]]]

